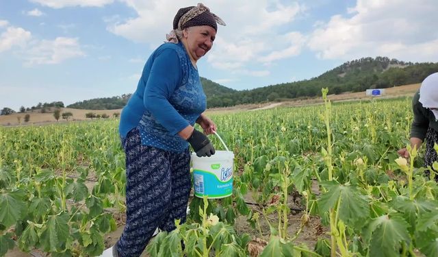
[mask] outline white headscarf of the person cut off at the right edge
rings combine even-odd
[[[438,120],[438,73],[433,73],[424,79],[420,87],[420,99],[424,108],[428,108]]]

